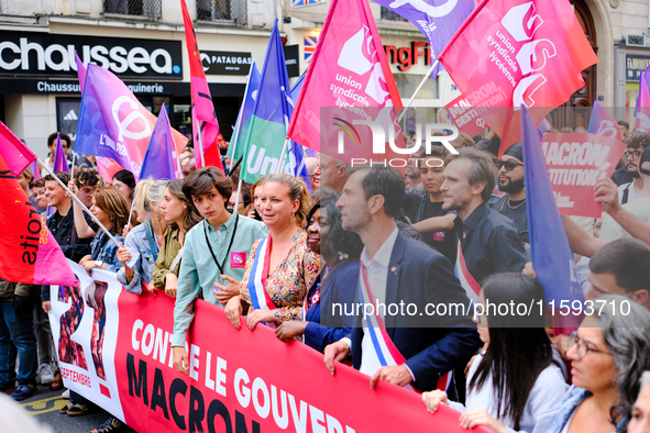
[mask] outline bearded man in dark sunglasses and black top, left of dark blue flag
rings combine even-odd
[[[524,188],[524,153],[521,142],[511,145],[498,162],[498,188],[507,192],[492,209],[508,216],[517,227],[521,242],[528,244],[528,215]]]

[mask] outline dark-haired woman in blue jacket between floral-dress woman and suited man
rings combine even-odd
[[[332,304],[352,304],[359,286],[359,257],[363,243],[359,234],[344,230],[333,189],[322,188],[322,198],[315,203],[307,219],[309,248],[326,260],[320,278],[309,288],[302,307],[302,320],[287,321],[275,334],[284,342],[302,335],[308,346],[323,352],[351,332],[351,317],[332,311]]]

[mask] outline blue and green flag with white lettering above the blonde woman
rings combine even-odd
[[[262,69],[260,92],[251,118],[251,131],[245,142],[240,141],[244,144],[244,181],[254,184],[277,171],[293,112],[291,88],[275,20]],[[280,173],[309,180],[302,146],[288,144]]]

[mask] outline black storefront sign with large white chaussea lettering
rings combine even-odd
[[[183,79],[180,41],[0,32],[0,75],[76,77],[81,60],[120,78]]]

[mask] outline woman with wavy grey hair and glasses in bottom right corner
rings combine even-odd
[[[553,433],[621,431],[639,393],[639,379],[650,369],[650,312],[612,295],[599,297],[594,310],[569,340],[573,386]]]

